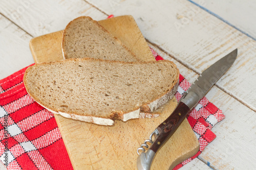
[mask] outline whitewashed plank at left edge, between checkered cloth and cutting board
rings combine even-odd
[[[29,52],[31,36],[0,15],[0,79],[34,63]]]

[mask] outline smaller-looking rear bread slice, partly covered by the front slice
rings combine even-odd
[[[69,58],[139,61],[120,40],[88,16],[78,17],[67,25],[62,37],[62,54]]]

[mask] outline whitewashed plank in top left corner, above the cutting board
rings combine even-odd
[[[95,20],[106,18],[82,0],[1,1],[0,11],[33,37],[63,30],[72,19],[81,15]]]

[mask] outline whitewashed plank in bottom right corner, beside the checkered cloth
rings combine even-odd
[[[194,82],[199,76],[159,48],[152,44],[151,47],[164,59],[175,62],[189,82]],[[198,158],[215,169],[253,169],[256,162],[255,112],[216,86],[206,98],[220,108],[226,118],[212,128],[217,137]]]

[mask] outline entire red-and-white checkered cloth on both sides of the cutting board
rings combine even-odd
[[[163,60],[152,50],[156,60]],[[27,67],[26,67],[27,68]],[[54,116],[38,105],[23,84],[26,68],[0,80],[0,160],[8,169],[72,169]],[[176,99],[190,84],[180,75]],[[211,128],[224,118],[222,111],[203,98],[187,116],[200,142],[196,158],[214,140]]]

